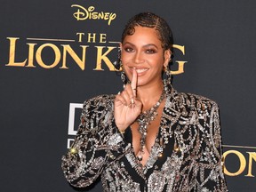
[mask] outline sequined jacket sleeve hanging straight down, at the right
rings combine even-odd
[[[221,158],[219,108],[213,101],[204,106],[206,109],[200,116],[202,127],[200,130],[201,151],[196,176],[197,191],[228,191]]]

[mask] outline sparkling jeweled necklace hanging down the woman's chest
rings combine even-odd
[[[147,137],[147,131],[148,131],[148,125],[150,124],[151,121],[156,119],[156,116],[158,115],[157,113],[157,108],[159,108],[161,102],[165,98],[165,91],[163,90],[159,100],[156,102],[156,104],[152,107],[149,108],[148,110],[144,111],[143,113],[138,116],[136,121],[139,123],[139,128],[138,131],[140,132],[140,151],[139,155],[137,156],[137,159],[139,161],[142,161],[143,154],[144,154],[144,148],[146,144],[146,137]]]

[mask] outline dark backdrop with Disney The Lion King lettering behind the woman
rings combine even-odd
[[[2,0],[0,191],[101,191],[68,185],[61,156],[84,100],[122,90],[114,65],[126,21],[155,12],[174,35],[173,86],[220,106],[230,191],[256,191],[256,2]]]

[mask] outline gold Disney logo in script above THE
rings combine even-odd
[[[111,21],[116,19],[115,12],[93,12],[95,10],[93,6],[86,9],[79,4],[72,4],[71,7],[77,8],[73,14],[76,20],[108,20],[108,25],[110,25]]]

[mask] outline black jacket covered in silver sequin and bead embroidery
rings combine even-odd
[[[170,85],[156,141],[141,167],[132,132],[114,121],[114,95],[84,102],[81,124],[62,170],[68,182],[84,188],[101,177],[104,191],[228,191],[221,164],[217,104],[180,93]]]

